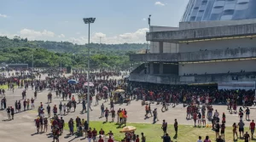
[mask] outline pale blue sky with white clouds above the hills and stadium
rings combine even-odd
[[[146,43],[151,26],[178,26],[189,0],[0,0],[0,36],[88,43]]]

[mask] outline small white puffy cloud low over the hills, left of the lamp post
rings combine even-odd
[[[55,37],[55,33],[52,31],[34,31],[30,29],[22,29],[20,30],[20,37],[27,37],[29,40],[48,40],[52,37]]]

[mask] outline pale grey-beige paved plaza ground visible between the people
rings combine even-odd
[[[43,78],[45,76],[42,76]],[[14,106],[15,100],[21,100],[21,92],[24,90],[24,88],[16,88],[15,93],[13,94],[12,91],[7,91],[6,93],[6,99],[7,99],[7,106]],[[27,141],[37,141],[37,142],[46,142],[46,141],[52,141],[51,138],[48,138],[48,133],[36,133],[36,127],[34,123],[34,119],[37,118],[37,108],[40,102],[43,102],[44,108],[47,104],[47,94],[49,93],[48,90],[44,90],[44,92],[38,93],[38,99],[35,100],[35,108],[34,110],[30,111],[21,111],[18,114],[15,114],[15,120],[12,121],[6,121],[8,119],[7,112],[0,111],[0,141],[3,142],[27,142]],[[31,99],[33,97],[33,91],[32,88],[29,88],[27,90],[26,98]],[[51,108],[53,108],[53,105],[59,105],[61,102],[61,98],[55,98],[55,93],[53,94],[53,102],[49,105]],[[1,98],[0,98],[1,99]],[[76,96],[77,99],[77,96]],[[65,102],[65,101],[64,101]],[[62,102],[62,104],[64,103]],[[95,106],[95,101],[92,103],[92,110],[90,111],[90,121],[105,121],[105,118],[99,118],[101,111],[100,111],[100,105],[103,103],[103,100],[99,101],[99,105]],[[110,107],[109,101],[104,103],[105,107]],[[144,106],[141,105],[141,100],[132,100],[130,105],[114,105],[114,110],[117,111],[119,108],[125,108],[128,111],[128,119],[127,122],[138,122],[138,123],[152,123],[153,117],[149,117],[148,119],[144,119]],[[159,122],[162,122],[163,119],[166,119],[166,122],[169,124],[172,124],[174,122],[174,119],[177,118],[177,122],[179,124],[186,124],[186,125],[194,125],[194,122],[192,120],[186,120],[186,108],[183,107],[182,104],[177,105],[175,108],[172,108],[172,106],[169,106],[169,110],[166,112],[161,112],[161,105],[152,104],[151,109],[157,108],[158,110],[158,117],[160,119]],[[225,105],[213,105],[214,110],[218,110],[220,113],[220,117],[222,115],[222,112],[225,112],[226,114],[226,125],[231,126],[234,122],[238,122],[239,117],[236,114],[230,114],[227,110],[227,107]],[[23,110],[23,106],[21,107],[21,110]],[[80,114],[80,111],[82,110],[82,105],[77,105],[77,109],[75,112],[69,113],[67,116],[62,116],[67,122],[71,117],[76,118],[76,116],[79,116],[80,118],[84,118],[86,120],[87,114]],[[72,109],[73,111],[73,109]],[[251,120],[256,120],[256,108],[251,107]],[[245,116],[244,116],[245,119]],[[246,126],[249,126],[249,122],[244,120]],[[211,123],[211,122],[207,122]],[[93,127],[93,126],[91,126]],[[66,134],[69,133],[67,131],[62,134],[60,137],[61,142],[67,142],[67,141],[80,141],[80,139],[74,139],[75,136],[69,137],[67,139],[64,138]],[[64,135],[64,136],[63,136]],[[85,140],[83,140],[85,141]]]

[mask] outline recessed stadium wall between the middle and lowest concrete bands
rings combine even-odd
[[[240,60],[240,61],[223,61],[213,63],[196,63],[196,64],[185,64],[178,65],[178,74],[216,74],[216,73],[228,73],[240,72],[244,70],[246,72],[256,71],[256,60]]]

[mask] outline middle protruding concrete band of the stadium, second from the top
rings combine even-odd
[[[130,54],[131,61],[151,62],[189,62],[204,60],[233,60],[256,58],[255,48],[225,48],[219,50],[203,50],[195,52],[182,52],[177,54]]]

